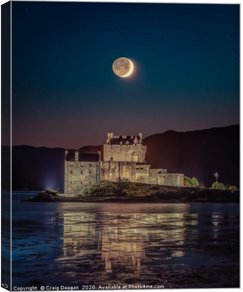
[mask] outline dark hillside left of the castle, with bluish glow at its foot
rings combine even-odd
[[[1,147],[2,156],[8,148]],[[63,188],[64,156],[63,148],[13,146],[13,190]],[[6,186],[2,185],[2,188],[6,189]]]

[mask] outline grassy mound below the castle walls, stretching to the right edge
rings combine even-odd
[[[91,201],[129,201],[139,198],[153,201],[239,201],[239,191],[119,181],[95,185],[84,190],[78,197]]]

